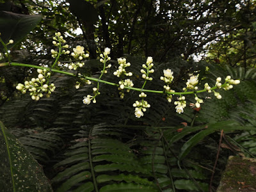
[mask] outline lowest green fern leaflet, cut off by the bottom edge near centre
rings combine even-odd
[[[155,192],[157,189],[152,188],[151,186],[144,186],[144,185],[139,185],[139,184],[133,184],[133,183],[123,183],[121,182],[120,184],[109,184],[107,186],[104,186],[100,188],[100,192]]]

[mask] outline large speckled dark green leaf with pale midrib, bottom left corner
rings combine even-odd
[[[0,122],[1,191],[52,191],[42,167]]]

